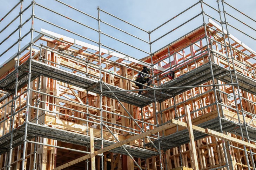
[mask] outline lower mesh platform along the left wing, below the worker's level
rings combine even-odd
[[[21,145],[24,140],[24,133],[25,133],[25,124],[17,127],[14,131],[14,138],[13,138],[13,147]],[[38,125],[34,123],[28,124],[28,131],[27,131],[28,139],[34,138],[35,136],[40,136],[43,138],[73,143],[75,145],[82,145],[88,146],[90,144],[90,137],[78,133],[71,133],[68,131],[60,130],[53,127]],[[7,133],[0,138],[0,154],[5,153],[8,148],[10,147],[10,140],[11,140],[11,133]],[[103,146],[107,147],[113,145],[116,142],[104,140]],[[96,149],[101,149],[101,139],[94,138],[94,146]],[[137,148],[129,145],[123,145],[128,152],[134,157],[151,157],[157,155],[158,153],[155,151],[150,151],[143,148]],[[119,153],[123,155],[127,155],[122,147],[115,148],[110,150],[114,153]]]

